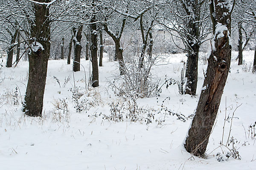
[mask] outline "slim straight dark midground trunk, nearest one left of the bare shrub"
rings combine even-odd
[[[92,62],[92,86],[98,87],[99,86],[99,68],[98,68],[98,57],[97,57],[97,51],[98,51],[98,43],[97,43],[97,25],[96,23],[96,16],[93,15],[90,25],[90,31],[91,31],[91,44],[90,44],[90,50],[91,50],[91,62]]]

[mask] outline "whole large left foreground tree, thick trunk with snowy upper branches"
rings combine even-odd
[[[27,46],[29,78],[23,111],[28,116],[42,116],[51,24],[64,16],[70,4],[61,0],[1,0],[1,4],[11,17],[4,18],[5,22],[18,25],[23,33],[20,37]]]

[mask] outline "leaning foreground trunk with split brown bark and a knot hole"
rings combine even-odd
[[[219,6],[218,4],[225,4]],[[215,11],[216,24],[215,44],[208,59],[207,74],[203,89],[198,101],[192,125],[186,137],[185,148],[195,156],[204,156],[209,136],[214,125],[218,108],[221,102],[224,86],[227,80],[231,60],[231,45],[229,37],[231,30],[230,0],[213,0],[210,2],[211,10]],[[212,14],[212,13],[211,13]],[[214,27],[215,28],[215,27]]]

